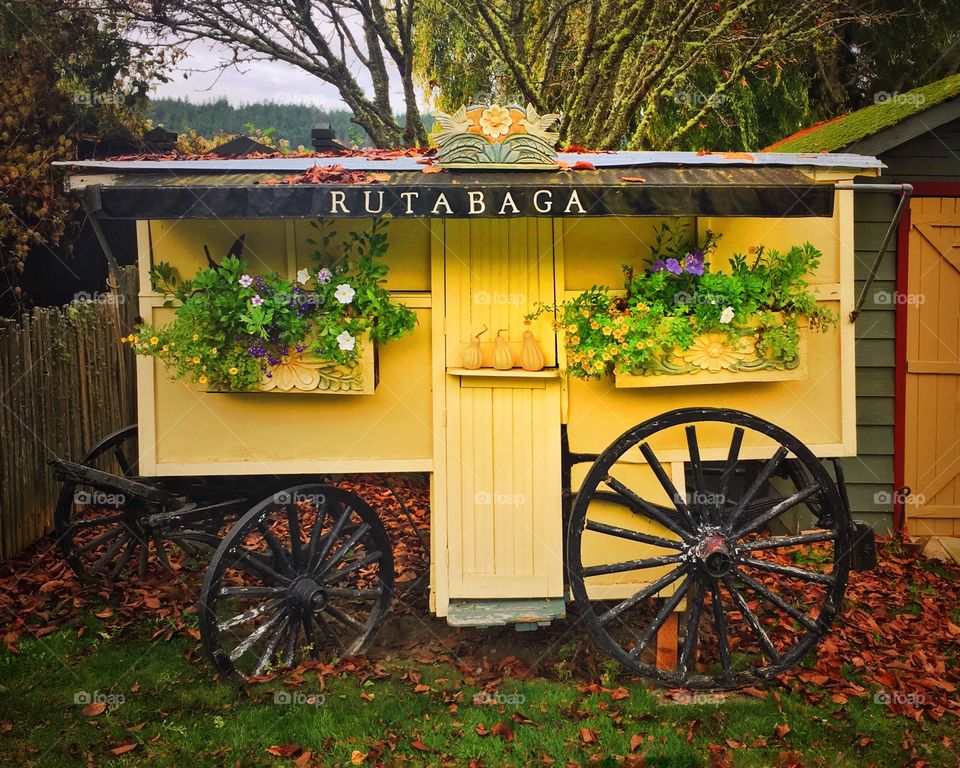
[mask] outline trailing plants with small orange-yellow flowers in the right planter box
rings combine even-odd
[[[734,350],[754,348],[778,367],[795,367],[801,319],[818,332],[837,322],[810,290],[822,254],[810,243],[783,252],[760,246],[715,271],[719,239],[707,232],[697,246],[683,227],[664,224],[647,266],[624,265],[624,291],[593,286],[528,317],[556,314],[568,372],[579,378],[663,370],[665,359],[714,332]]]

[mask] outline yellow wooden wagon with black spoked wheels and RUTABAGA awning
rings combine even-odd
[[[415,314],[411,333],[360,338],[339,367],[267,361],[276,379],[250,392],[174,381],[141,357],[139,426],[78,463],[53,462],[65,481],[58,539],[82,575],[118,576],[151,545],[161,560],[171,545],[212,552],[201,626],[224,674],[370,646],[394,566],[378,510],[336,482],[352,473],[429,474],[436,615],[535,629],[570,611],[574,630],[582,622],[630,670],[668,685],[776,675],[823,637],[851,567],[870,565],[872,534],[850,519],[839,463],[824,460],[856,453],[851,182],[881,165],[555,156],[549,144],[507,146],[536,121],[502,112],[513,124],[492,137],[476,125],[489,108],[447,118],[435,157],[70,165],[95,221],[136,220],[152,327],[177,312],[157,290],[158,264],[183,278],[215,272],[242,235],[243,277],[299,275],[309,293],[314,219],[333,242],[390,220],[386,287]],[[789,363],[765,364],[754,329],[746,351],[708,339],[700,363],[660,355],[657,371],[570,375],[583,355],[564,302],[618,288],[625,263],[643,269],[668,220],[700,244],[721,234],[717,254],[812,244],[810,290],[838,322],[820,333],[801,323]]]

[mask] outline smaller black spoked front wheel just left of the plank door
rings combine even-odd
[[[257,504],[227,534],[201,593],[201,634],[224,675],[250,678],[365,651],[390,606],[393,553],[356,494],[301,485]]]

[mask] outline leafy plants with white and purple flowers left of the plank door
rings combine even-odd
[[[295,356],[349,365],[364,334],[383,344],[410,333],[416,316],[394,304],[385,287],[386,221],[351,232],[339,249],[327,222],[313,224],[316,269],[301,269],[292,280],[252,276],[235,256],[187,281],[169,264],[156,264],[151,280],[176,305],[176,318],[144,324],[128,341],[139,354],[161,359],[174,378],[244,391],[270,375],[269,366]]]

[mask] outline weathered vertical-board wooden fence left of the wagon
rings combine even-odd
[[[0,319],[0,562],[53,528],[59,484],[47,459],[77,460],[136,421],[134,355],[120,343],[136,297],[136,270],[127,267],[117,298]]]

